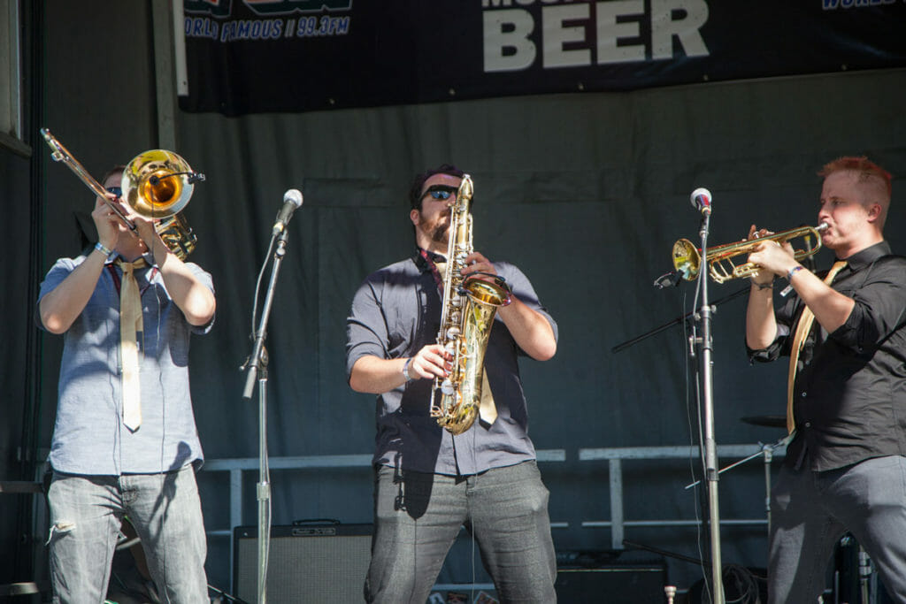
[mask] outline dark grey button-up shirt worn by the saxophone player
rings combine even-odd
[[[541,312],[557,334],[554,319],[538,302],[532,284],[516,266],[494,263],[513,294]],[[346,370],[366,355],[380,359],[410,357],[437,341],[440,292],[428,263],[416,254],[372,273],[361,284],[346,321]],[[373,462],[417,472],[472,475],[489,468],[535,459],[528,437],[528,410],[517,356],[525,354],[499,315],[485,356],[485,371],[498,417],[487,427],[480,420],[452,436],[429,415],[430,379],[418,379],[377,398]]]

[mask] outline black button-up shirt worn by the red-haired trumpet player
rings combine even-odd
[[[855,301],[833,333],[814,321],[793,391],[796,432],[786,463],[832,470],[871,457],[906,455],[906,258],[887,242],[846,259],[831,287]],[[789,356],[804,303],[776,312],[777,338],[751,360]]]

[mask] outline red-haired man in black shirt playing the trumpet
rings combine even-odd
[[[752,360],[791,358],[792,440],[771,494],[768,601],[815,602],[834,544],[851,532],[894,601],[906,602],[906,258],[883,237],[891,175],[831,161],[818,222],[834,267],[814,274],[788,244],[749,254]],[[754,225],[749,239],[768,235]],[[776,278],[794,295],[776,311]]]

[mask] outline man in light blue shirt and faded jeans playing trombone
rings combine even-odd
[[[120,204],[122,175],[118,167],[101,180],[111,193],[95,200],[97,244],[57,260],[37,301],[40,326],[63,334],[48,493],[53,601],[105,600],[128,517],[154,601],[198,604],[208,601],[207,544],[188,340],[211,329],[214,288],[210,274],[169,251],[153,221]]]

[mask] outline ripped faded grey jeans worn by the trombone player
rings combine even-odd
[[[53,473],[50,572],[53,602],[102,602],[123,517],[141,539],[160,598],[208,602],[207,538],[195,471],[83,476]]]

